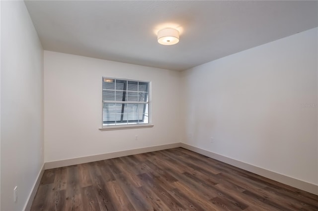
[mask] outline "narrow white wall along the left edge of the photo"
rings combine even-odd
[[[43,165],[43,49],[24,1],[1,1],[1,211],[20,211]],[[18,199],[13,202],[13,188]]]

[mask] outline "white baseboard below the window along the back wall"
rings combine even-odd
[[[106,153],[101,155],[87,156],[87,157],[81,157],[81,158],[56,160],[56,161],[46,162],[45,169],[58,168],[58,167],[69,166],[69,165],[77,165],[80,163],[93,162],[93,161],[110,159],[110,158],[119,158],[123,156],[130,156],[130,155],[136,155],[141,153],[155,152],[159,150],[166,150],[166,149],[176,148],[180,146],[181,146],[181,143],[173,143],[173,144],[165,144],[165,145],[159,145],[159,146],[153,146],[153,147],[145,147],[140,149]]]

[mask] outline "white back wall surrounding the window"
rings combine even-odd
[[[151,81],[155,126],[98,130],[102,76]],[[180,72],[44,51],[45,161],[180,142],[179,90]]]

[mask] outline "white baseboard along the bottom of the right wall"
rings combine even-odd
[[[270,171],[270,170],[267,170],[264,168],[260,168],[260,167],[257,167],[257,166],[254,166],[254,165],[251,165],[251,164],[248,164],[248,163],[245,163],[245,162],[233,159],[233,158],[221,156],[219,154],[212,153],[210,151],[207,151],[207,150],[204,150],[204,149],[201,149],[198,147],[194,147],[194,146],[191,146],[188,144],[181,143],[180,145],[184,149],[199,153],[199,154],[207,156],[209,158],[214,158],[214,159],[220,160],[222,162],[228,163],[230,165],[234,165],[234,166],[239,167],[241,169],[244,169],[246,171],[250,171],[252,173],[255,173],[255,174],[264,176],[266,178],[275,180],[277,182],[281,182],[283,184],[290,185],[292,187],[295,187],[295,188],[307,191],[309,193],[313,193],[315,195],[318,195],[318,185],[315,185],[315,184],[312,184],[309,182],[305,182],[305,181],[302,181],[299,179],[295,179],[293,177],[289,177],[289,176],[286,176],[283,174],[279,174],[279,173],[276,173],[276,172],[273,172],[273,171]]]

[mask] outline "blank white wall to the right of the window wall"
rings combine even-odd
[[[317,185],[317,40],[315,28],[184,71],[185,143]]]

